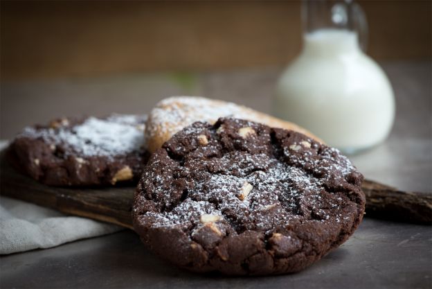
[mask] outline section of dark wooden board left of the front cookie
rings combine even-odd
[[[132,229],[134,186],[81,189],[46,186],[17,173],[0,155],[0,193],[63,213],[92,218]]]

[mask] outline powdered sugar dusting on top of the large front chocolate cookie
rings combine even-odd
[[[335,212],[348,206],[350,200],[347,195],[335,192],[356,189],[347,181],[355,168],[339,150],[298,134],[296,137],[300,139],[284,146],[282,155],[277,155],[273,147],[277,143],[270,141],[269,129],[262,130],[256,123],[230,121],[234,128],[218,131],[194,124],[177,134],[179,139],[192,141],[174,139],[170,141],[172,146],[166,145],[168,153],[182,156],[180,162],[170,155],[166,156],[166,162],[150,161],[142,181],[143,187],[152,192],[147,200],[154,200],[156,206],[163,203],[164,208],[173,208],[152,212],[157,216],[152,227],[188,223],[187,227],[199,229],[203,226],[198,218],[202,213],[222,216],[218,224],[228,225],[237,232],[248,229],[268,232],[303,220],[343,221],[342,215]],[[236,135],[242,126],[251,126],[259,135],[247,138]],[[206,135],[206,146],[199,145],[199,135]],[[226,145],[222,139],[226,137],[235,143],[236,150],[223,148]],[[292,150],[294,146],[296,150]],[[221,150],[224,153],[218,157]],[[243,194],[245,187],[247,193]],[[173,195],[182,195],[184,200]]]

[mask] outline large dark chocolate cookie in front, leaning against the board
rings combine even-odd
[[[357,228],[362,180],[339,150],[304,134],[238,119],[194,123],[150,157],[134,229],[195,272],[297,272]]]

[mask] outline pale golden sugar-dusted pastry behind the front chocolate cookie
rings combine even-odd
[[[272,128],[294,130],[316,141],[323,142],[311,132],[294,123],[276,119],[276,117],[243,105],[198,96],[172,96],[157,103],[148,116],[145,126],[147,150],[154,152],[161,148],[162,144],[176,132],[195,123],[195,121],[206,121],[213,124],[219,117],[224,116],[264,123]]]

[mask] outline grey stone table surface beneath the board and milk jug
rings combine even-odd
[[[431,62],[383,64],[397,100],[390,137],[350,158],[370,179],[432,191]],[[1,85],[1,137],[58,114],[146,113],[163,96],[200,94],[269,112],[280,68],[110,76]],[[103,103],[103,105],[101,105]],[[365,112],[367,117],[367,112]],[[352,238],[298,274],[227,278],[179,270],[133,231],[0,257],[1,288],[432,288],[432,228],[366,218]]]

